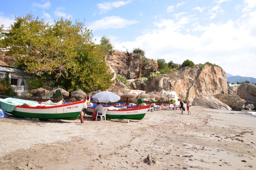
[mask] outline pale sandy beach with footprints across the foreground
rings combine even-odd
[[[192,106],[138,122],[0,118],[0,170],[253,170],[256,116]]]

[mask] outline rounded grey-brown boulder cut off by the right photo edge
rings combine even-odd
[[[246,102],[256,102],[256,86],[244,83],[239,86],[237,93],[241,99],[244,99]]]

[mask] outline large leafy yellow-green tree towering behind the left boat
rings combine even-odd
[[[42,80],[55,81],[68,91],[105,90],[113,75],[105,63],[107,51],[92,41],[84,23],[55,20],[49,25],[32,14],[16,17],[10,33],[0,40],[16,65]]]

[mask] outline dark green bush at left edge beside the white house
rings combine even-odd
[[[0,95],[3,96],[18,96],[12,88],[10,83],[9,74],[6,73],[3,79],[0,79]]]

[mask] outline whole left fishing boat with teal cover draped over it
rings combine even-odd
[[[85,101],[64,104],[60,101],[53,103],[35,102],[23,99],[0,99],[0,108],[12,115],[38,119],[76,120],[81,113]]]

